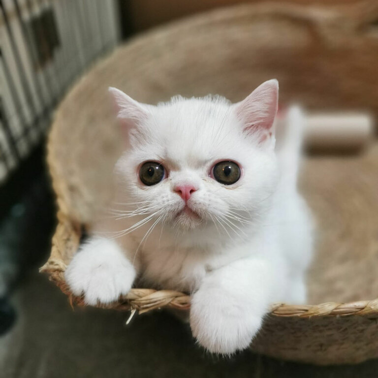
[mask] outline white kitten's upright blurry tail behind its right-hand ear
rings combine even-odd
[[[303,135],[305,128],[303,110],[291,106],[284,117],[277,117],[277,156],[282,167],[282,181],[288,186],[296,186],[300,166]]]

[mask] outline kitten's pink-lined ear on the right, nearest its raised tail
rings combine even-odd
[[[233,105],[233,110],[243,122],[243,132],[258,138],[262,143],[269,139],[274,145],[274,119],[278,107],[278,81],[268,80],[257,87],[243,101]]]

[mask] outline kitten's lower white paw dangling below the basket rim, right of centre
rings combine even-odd
[[[198,343],[213,353],[230,355],[247,348],[260,329],[261,316],[220,289],[201,290],[193,296],[190,327]]]

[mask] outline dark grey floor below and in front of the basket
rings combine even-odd
[[[378,361],[315,367],[246,351],[207,355],[189,327],[166,313],[136,316],[97,309],[72,311],[67,298],[36,273],[15,295],[18,322],[0,338],[0,377],[377,377]]]

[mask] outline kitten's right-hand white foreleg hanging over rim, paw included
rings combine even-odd
[[[263,259],[241,259],[210,272],[192,295],[190,327],[210,352],[247,348],[279,291],[277,271]]]

